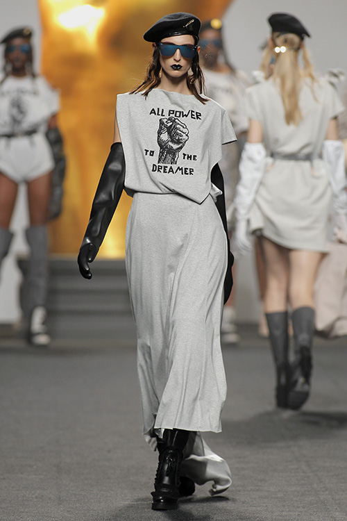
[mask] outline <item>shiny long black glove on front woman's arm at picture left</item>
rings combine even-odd
[[[94,196],[87,230],[77,262],[81,275],[92,279],[89,263],[94,261],[124,189],[126,165],[120,142],[113,143]]]

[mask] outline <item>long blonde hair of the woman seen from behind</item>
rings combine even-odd
[[[270,76],[279,84],[283,106],[285,108],[285,120],[287,124],[298,125],[303,118],[299,106],[299,94],[303,78],[311,80],[312,94],[314,94],[313,65],[310,55],[300,36],[292,33],[272,33],[271,40],[274,48],[268,44],[262,56],[260,69],[265,78]],[[303,67],[298,63],[298,53],[302,51]],[[273,59],[275,60],[272,66]]]

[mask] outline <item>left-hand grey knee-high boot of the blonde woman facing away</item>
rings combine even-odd
[[[276,366],[276,404],[287,407],[289,362],[288,362],[288,313],[266,313],[269,338]]]

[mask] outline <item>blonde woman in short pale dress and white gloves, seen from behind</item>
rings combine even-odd
[[[344,148],[337,140],[343,107],[335,87],[314,76],[303,24],[287,13],[271,15],[269,24],[264,81],[245,97],[250,124],[235,197],[235,249],[250,249],[249,232],[261,238],[276,402],[297,409],[310,393],[313,285],[328,251],[332,201],[335,224],[347,231]],[[291,365],[288,304],[295,342]]]

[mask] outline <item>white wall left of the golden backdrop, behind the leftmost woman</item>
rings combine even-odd
[[[33,43],[36,49],[35,68],[38,69],[40,62],[40,19],[35,0],[11,0],[1,6],[0,17],[0,39],[10,29],[20,26],[31,26],[33,28]],[[0,46],[1,60],[3,65],[3,45]],[[24,240],[23,231],[27,226],[26,190],[20,187],[15,213],[12,218],[11,230],[15,231],[15,239],[12,241],[10,254],[5,258],[0,273],[0,323],[16,322],[20,317],[18,305],[18,286],[21,280],[20,272],[15,263],[17,254],[28,251]]]

